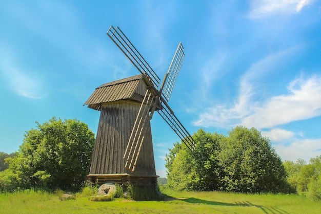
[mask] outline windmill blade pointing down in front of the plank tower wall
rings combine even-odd
[[[141,151],[144,141],[145,133],[147,130],[147,119],[152,119],[158,102],[158,97],[152,91],[147,90],[141,108],[138,111],[136,121],[131,132],[124,159],[126,160],[125,167],[134,172],[139,152]]]

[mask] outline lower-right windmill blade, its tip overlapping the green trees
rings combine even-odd
[[[178,137],[186,144],[191,152],[195,150],[196,142],[192,136],[187,132],[182,123],[174,115],[168,104],[163,100],[160,110],[157,111],[160,116],[169,124]]]

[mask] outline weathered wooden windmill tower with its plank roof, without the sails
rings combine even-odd
[[[142,75],[113,81],[98,87],[86,101],[101,111],[89,179],[98,183],[133,181],[155,183],[156,172],[150,123],[146,126],[142,156],[134,172],[125,168],[123,156],[147,85]]]

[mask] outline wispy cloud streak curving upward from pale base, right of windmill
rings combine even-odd
[[[239,79],[239,93],[234,103],[219,104],[206,109],[194,125],[231,127],[242,123],[245,118],[254,114],[257,106],[261,104],[254,99],[260,92],[257,82],[295,50],[296,48],[290,48],[253,63]]]

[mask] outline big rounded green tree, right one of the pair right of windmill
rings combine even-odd
[[[221,142],[223,190],[239,192],[287,191],[286,170],[270,140],[256,129],[237,126]]]

